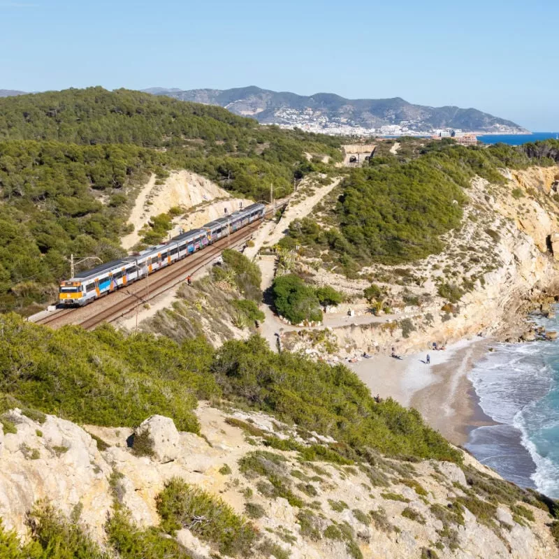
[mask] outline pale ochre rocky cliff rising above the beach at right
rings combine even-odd
[[[447,344],[478,333],[518,339],[525,328],[518,311],[530,300],[559,293],[559,167],[502,173],[505,184],[472,180],[462,226],[445,235],[442,253],[412,266],[362,270],[384,290],[393,312],[381,321],[332,328],[329,347],[351,356],[395,345],[400,352],[424,349],[431,341]],[[313,282],[352,296],[349,306],[357,315],[370,308],[362,294],[369,280],[317,271],[309,260],[299,266]],[[304,336],[287,337],[291,349],[312,351]],[[324,347],[314,349],[325,354]]]

